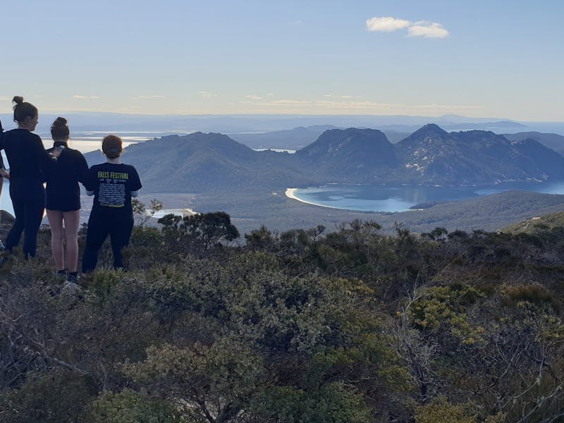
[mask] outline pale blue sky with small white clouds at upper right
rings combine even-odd
[[[2,1],[0,112],[564,121],[561,0]]]

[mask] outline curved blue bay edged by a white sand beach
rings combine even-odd
[[[481,187],[414,185],[338,185],[300,188],[298,200],[323,207],[360,212],[406,212],[415,206],[455,202],[508,190],[564,194],[564,181],[551,183],[503,183]],[[417,207],[415,207],[417,208]]]

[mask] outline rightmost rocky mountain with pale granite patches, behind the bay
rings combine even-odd
[[[410,183],[479,185],[564,177],[560,154],[531,139],[510,141],[490,131],[447,133],[425,125],[398,142]]]

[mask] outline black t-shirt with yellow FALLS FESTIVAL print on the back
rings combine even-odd
[[[95,164],[88,171],[85,187],[94,191],[92,213],[114,210],[133,214],[131,192],[140,190],[141,181],[129,164]]]

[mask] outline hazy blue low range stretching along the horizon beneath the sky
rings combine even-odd
[[[291,128],[309,128],[331,125],[334,128],[379,128],[388,131],[412,133],[427,123],[436,123],[445,130],[481,129],[496,133],[539,131],[564,135],[562,122],[517,122],[505,118],[467,118],[458,115],[431,116],[374,116],[374,115],[135,115],[86,111],[61,111],[41,114],[37,131],[49,134],[49,127],[57,116],[67,118],[73,131],[109,133],[147,132],[184,134],[191,132],[219,132],[226,134],[268,133]],[[14,127],[11,114],[0,114],[4,128]],[[391,140],[391,138],[388,137]],[[394,140],[391,140],[394,142]]]

